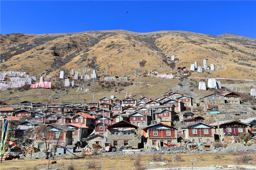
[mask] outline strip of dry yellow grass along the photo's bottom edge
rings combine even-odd
[[[183,161],[172,162],[175,167],[191,166],[191,154],[179,154]],[[149,166],[153,155],[139,155],[142,159],[142,164],[147,168],[157,168],[157,166]],[[164,154],[165,159],[172,159],[174,154]],[[254,155],[255,156],[255,155]],[[211,165],[226,166],[228,164],[237,164],[234,158],[237,156],[220,153],[202,153],[193,154],[194,167],[206,167]],[[102,170],[134,170],[134,160],[137,156],[86,156],[82,159],[73,159],[71,156],[57,158],[57,164],[52,164],[50,167],[58,167],[60,170],[67,170],[68,165],[74,164],[75,170],[86,170],[87,162],[97,162],[97,166]],[[254,157],[255,158],[255,157]],[[165,161],[168,163],[168,161]],[[256,160],[252,161],[255,166]],[[47,167],[47,160],[32,159],[32,160],[13,160],[3,161],[1,164],[2,170],[38,170]],[[160,168],[160,167],[158,167]],[[164,168],[162,166],[162,168]]]

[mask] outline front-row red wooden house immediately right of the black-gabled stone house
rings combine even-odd
[[[175,127],[158,123],[143,128],[143,140],[148,147],[156,147],[156,143],[160,146],[169,146],[177,143]]]

